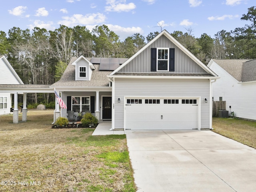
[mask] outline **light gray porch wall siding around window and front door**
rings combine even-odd
[[[102,119],[102,96],[111,96],[111,92],[99,92],[100,120]],[[94,96],[94,110],[96,110],[96,92],[62,92],[62,100],[67,105],[67,96]],[[92,110],[92,109],[91,109]],[[92,113],[95,116],[95,113]],[[62,109],[62,117],[67,118],[67,109]]]

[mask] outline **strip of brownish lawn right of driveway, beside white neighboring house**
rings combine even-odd
[[[256,149],[256,122],[236,118],[212,118],[214,132]]]

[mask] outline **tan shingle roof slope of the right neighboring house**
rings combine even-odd
[[[212,59],[239,82],[242,81],[243,63],[249,59]],[[247,69],[244,69],[244,74]],[[243,78],[245,80],[246,77]]]

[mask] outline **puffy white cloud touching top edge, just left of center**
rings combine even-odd
[[[129,12],[136,8],[134,3],[125,4],[126,0],[107,0],[106,4],[110,4],[110,6],[106,6],[105,10],[110,12]]]

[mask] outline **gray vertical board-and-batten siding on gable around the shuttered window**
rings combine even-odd
[[[175,48],[174,71],[170,73],[206,73],[164,35],[131,60],[119,72],[151,72],[151,48]]]

